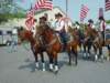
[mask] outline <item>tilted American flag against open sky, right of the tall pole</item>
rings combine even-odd
[[[80,9],[80,22],[82,22],[84,19],[87,17],[88,11],[88,7],[82,4]]]

